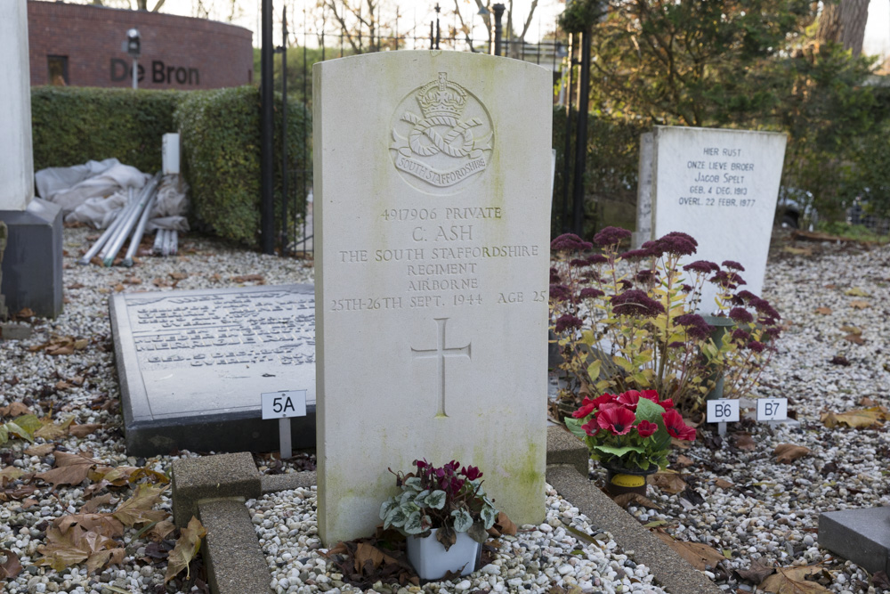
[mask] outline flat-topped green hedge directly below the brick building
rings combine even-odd
[[[154,173],[161,136],[174,132],[177,91],[76,86],[31,88],[34,169],[70,167],[115,157]]]

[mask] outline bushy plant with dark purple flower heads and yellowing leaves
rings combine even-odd
[[[553,240],[550,270],[551,330],[562,353],[560,399],[607,390],[654,389],[686,414],[700,412],[723,374],[724,396],[745,395],[769,362],[780,315],[747,290],[741,264],[705,260],[681,264],[698,243],[680,232],[620,251],[630,232],[606,227],[593,244],[564,234]],[[727,328],[696,313],[705,283],[715,284],[712,307]]]

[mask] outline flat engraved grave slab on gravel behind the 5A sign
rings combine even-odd
[[[270,452],[260,395],[307,391],[295,448],[315,446],[312,285],[128,293],[110,301],[127,452]]]

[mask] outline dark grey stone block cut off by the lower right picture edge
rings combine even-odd
[[[870,574],[890,574],[890,508],[842,509],[819,515],[819,546]]]

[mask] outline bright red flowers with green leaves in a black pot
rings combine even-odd
[[[646,475],[667,467],[671,437],[692,441],[695,429],[684,423],[670,400],[655,390],[585,398],[566,427],[587,443],[590,457],[609,472],[607,490],[646,494]]]

